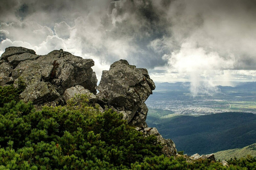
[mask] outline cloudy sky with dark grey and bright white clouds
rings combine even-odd
[[[126,59],[191,92],[256,81],[255,0],[1,0],[0,54],[23,46],[93,59],[98,81]]]

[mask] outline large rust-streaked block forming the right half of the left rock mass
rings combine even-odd
[[[63,50],[53,50],[36,61],[42,67],[43,81],[52,83],[58,93],[63,94],[70,87],[82,85],[96,94],[97,79],[91,68],[94,66],[92,59],[83,59]]]

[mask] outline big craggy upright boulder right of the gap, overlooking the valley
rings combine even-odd
[[[144,102],[155,89],[146,69],[136,68],[121,59],[113,63],[109,71],[102,72],[96,89],[98,98],[123,113],[128,123],[146,127],[148,109]]]

